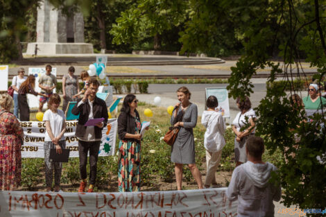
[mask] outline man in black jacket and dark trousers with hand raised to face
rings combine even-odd
[[[102,130],[108,122],[108,108],[105,101],[96,97],[96,92],[99,87],[96,78],[89,79],[89,87],[87,88],[84,97],[76,103],[71,110],[72,114],[78,115],[78,125],[76,127],[76,137],[78,138],[79,152],[79,169],[80,169],[80,186],[78,192],[84,192],[86,186],[86,165],[87,153],[89,151],[89,189],[88,192],[93,192],[96,172],[98,151],[101,144]],[[101,119],[104,121],[92,126],[85,126],[89,119]]]

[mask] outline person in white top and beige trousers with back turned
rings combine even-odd
[[[222,148],[225,146],[225,139],[223,137],[225,123],[221,112],[215,111],[215,107],[218,106],[215,96],[207,98],[206,106],[208,110],[203,112],[201,123],[207,128],[204,137],[207,164],[205,188],[209,188],[211,184],[213,187],[217,187],[215,172],[221,160]]]

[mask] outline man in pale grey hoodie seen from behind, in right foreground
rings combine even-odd
[[[248,162],[234,169],[226,191],[230,201],[239,200],[239,217],[274,216],[273,200],[281,199],[281,186],[268,182],[271,172],[277,168],[261,161],[264,153],[264,140],[250,136],[247,139],[246,153]]]

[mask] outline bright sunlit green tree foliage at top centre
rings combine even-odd
[[[137,44],[153,37],[154,49],[161,49],[162,34],[180,26],[187,17],[187,2],[178,0],[138,0],[121,12],[110,33],[114,44]]]

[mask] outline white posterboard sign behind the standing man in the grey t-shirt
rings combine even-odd
[[[45,74],[45,67],[37,67],[37,68],[28,68],[28,76],[35,76],[35,91],[40,93],[41,88],[38,86],[38,80],[40,76]],[[57,76],[57,68],[52,68],[51,74]],[[53,89],[53,93],[55,93],[55,89]],[[40,104],[40,96],[34,96],[33,94],[27,94],[27,102],[29,107],[39,107]],[[43,109],[47,107],[47,103],[44,103]]]

